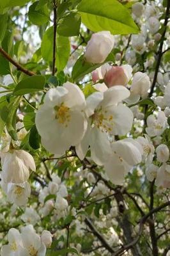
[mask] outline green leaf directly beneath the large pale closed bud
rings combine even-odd
[[[100,64],[92,64],[92,63],[88,63],[84,60],[84,55],[82,55],[76,62],[75,65],[73,66],[73,70],[72,70],[72,79],[74,81],[79,81],[82,79],[82,77],[84,77],[86,74],[89,74],[90,72],[92,72],[93,70],[95,70],[96,68],[104,65],[104,63],[112,61],[114,62],[114,54],[111,52],[109,54],[109,56],[107,57],[107,59]]]

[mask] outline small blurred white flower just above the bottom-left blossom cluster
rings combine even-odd
[[[37,221],[40,221],[40,216],[33,208],[26,207],[26,211],[21,216],[21,220],[26,223],[35,225]]]

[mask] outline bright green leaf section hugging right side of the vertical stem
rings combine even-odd
[[[68,37],[57,35],[56,38],[56,66],[58,72],[65,68],[70,57],[70,40]]]

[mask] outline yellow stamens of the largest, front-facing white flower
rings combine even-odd
[[[54,109],[56,110],[56,119],[58,120],[59,124],[65,124],[65,127],[67,127],[68,122],[70,122],[70,109],[64,104],[61,104],[61,106],[56,106]]]

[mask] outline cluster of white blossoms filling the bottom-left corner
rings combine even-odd
[[[45,256],[46,246],[48,248],[51,244],[51,237],[47,230],[44,230],[40,237],[32,225],[22,227],[21,232],[11,228],[8,232],[8,244],[1,248],[1,256]]]

